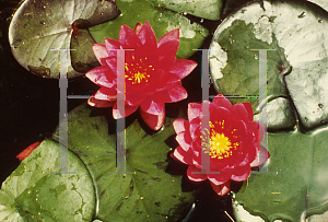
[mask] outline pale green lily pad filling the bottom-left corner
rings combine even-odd
[[[68,153],[69,171],[59,171],[58,143],[45,140],[5,179],[0,190],[1,221],[91,221],[95,194],[82,161]]]

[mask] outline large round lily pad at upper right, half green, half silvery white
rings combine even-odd
[[[323,125],[328,120],[327,22],[325,10],[305,1],[242,8],[219,25],[213,37],[210,62],[218,92],[258,95],[258,51],[250,49],[277,49],[267,52],[266,100],[291,98],[305,128]],[[242,101],[251,103],[234,102]],[[256,102],[253,105],[256,108]]]

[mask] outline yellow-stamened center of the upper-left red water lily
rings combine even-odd
[[[147,61],[147,57],[144,58]],[[142,59],[136,60],[132,56],[132,62],[126,63],[125,77],[132,84],[148,82],[150,78],[150,71],[154,71],[153,66],[149,66]]]

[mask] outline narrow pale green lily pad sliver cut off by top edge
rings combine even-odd
[[[222,0],[150,0],[159,7],[163,7],[176,12],[189,13],[195,16],[208,19],[208,20],[219,20],[221,16],[221,10],[223,5]]]

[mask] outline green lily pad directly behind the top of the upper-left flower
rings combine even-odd
[[[97,43],[104,43],[104,38],[118,39],[118,33],[122,24],[132,30],[137,23],[149,21],[150,25],[160,39],[167,32],[180,28],[180,43],[176,57],[188,58],[201,46],[209,31],[197,23],[190,21],[169,10],[156,7],[147,0],[117,0],[116,4],[121,11],[120,15],[113,21],[93,26],[90,32]]]

